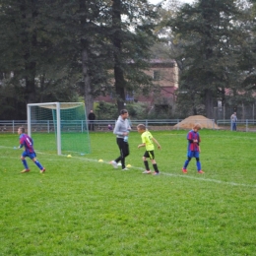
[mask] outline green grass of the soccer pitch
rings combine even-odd
[[[129,171],[107,163],[118,149],[100,132],[90,155],[38,151],[44,174],[31,160],[21,174],[18,135],[1,134],[0,255],[255,255],[256,134],[200,131],[205,174],[195,160],[183,174],[186,133],[153,132],[159,176],[141,174],[137,132]]]

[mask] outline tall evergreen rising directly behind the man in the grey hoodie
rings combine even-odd
[[[156,18],[157,12],[147,0],[112,1],[110,38],[118,110],[124,108],[125,93],[147,95],[153,87],[144,70],[149,68],[150,47],[156,41]]]

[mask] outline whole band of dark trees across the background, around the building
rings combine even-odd
[[[0,0],[0,119],[26,104],[153,92],[151,58],[175,59],[177,111],[211,117],[254,100],[255,1]],[[226,92],[231,92],[226,96]]]

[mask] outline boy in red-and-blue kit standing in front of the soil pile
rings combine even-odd
[[[188,140],[188,148],[187,148],[187,160],[184,162],[184,166],[182,168],[183,173],[187,173],[187,165],[192,158],[195,158],[197,164],[198,173],[204,173],[201,169],[201,162],[199,160],[199,154],[201,152],[199,143],[201,142],[198,131],[201,129],[200,124],[195,124],[193,129],[188,132],[187,140]]]

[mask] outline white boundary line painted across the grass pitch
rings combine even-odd
[[[5,146],[0,146],[0,148],[6,148],[6,149],[12,149],[10,147],[5,147]],[[36,151],[37,152],[37,151]],[[48,154],[48,153],[42,153],[39,152],[41,155],[49,155],[52,156],[52,154]],[[57,156],[56,156],[57,157]],[[67,158],[67,156],[62,155],[59,156],[61,158]],[[4,156],[1,156],[0,158],[5,158]],[[94,161],[94,162],[98,162],[98,160],[94,160],[94,159],[88,159],[85,157],[72,157],[71,159],[75,159],[75,160],[88,160],[88,161]],[[48,159],[50,160],[50,159]],[[56,159],[54,160],[56,161]],[[105,163],[108,165],[111,165],[111,163],[109,163],[109,161],[100,161],[100,163]],[[138,170],[144,170],[144,168],[142,167],[136,167],[136,166],[132,166],[133,169],[138,169]],[[173,176],[173,177],[181,177],[181,178],[190,178],[190,179],[194,179],[194,180],[200,180],[200,181],[207,181],[207,182],[214,182],[214,183],[219,183],[219,184],[225,184],[225,185],[230,185],[230,186],[241,186],[241,187],[251,187],[251,188],[256,188],[256,185],[250,185],[250,184],[244,184],[244,183],[236,183],[236,182],[228,182],[228,181],[222,181],[222,180],[218,180],[218,179],[212,179],[212,178],[203,178],[203,177],[195,177],[195,176],[189,176],[187,174],[175,174],[175,173],[167,173],[167,172],[162,172],[160,171],[161,175],[165,175],[165,176]],[[200,174],[200,175],[204,175],[204,174]]]

